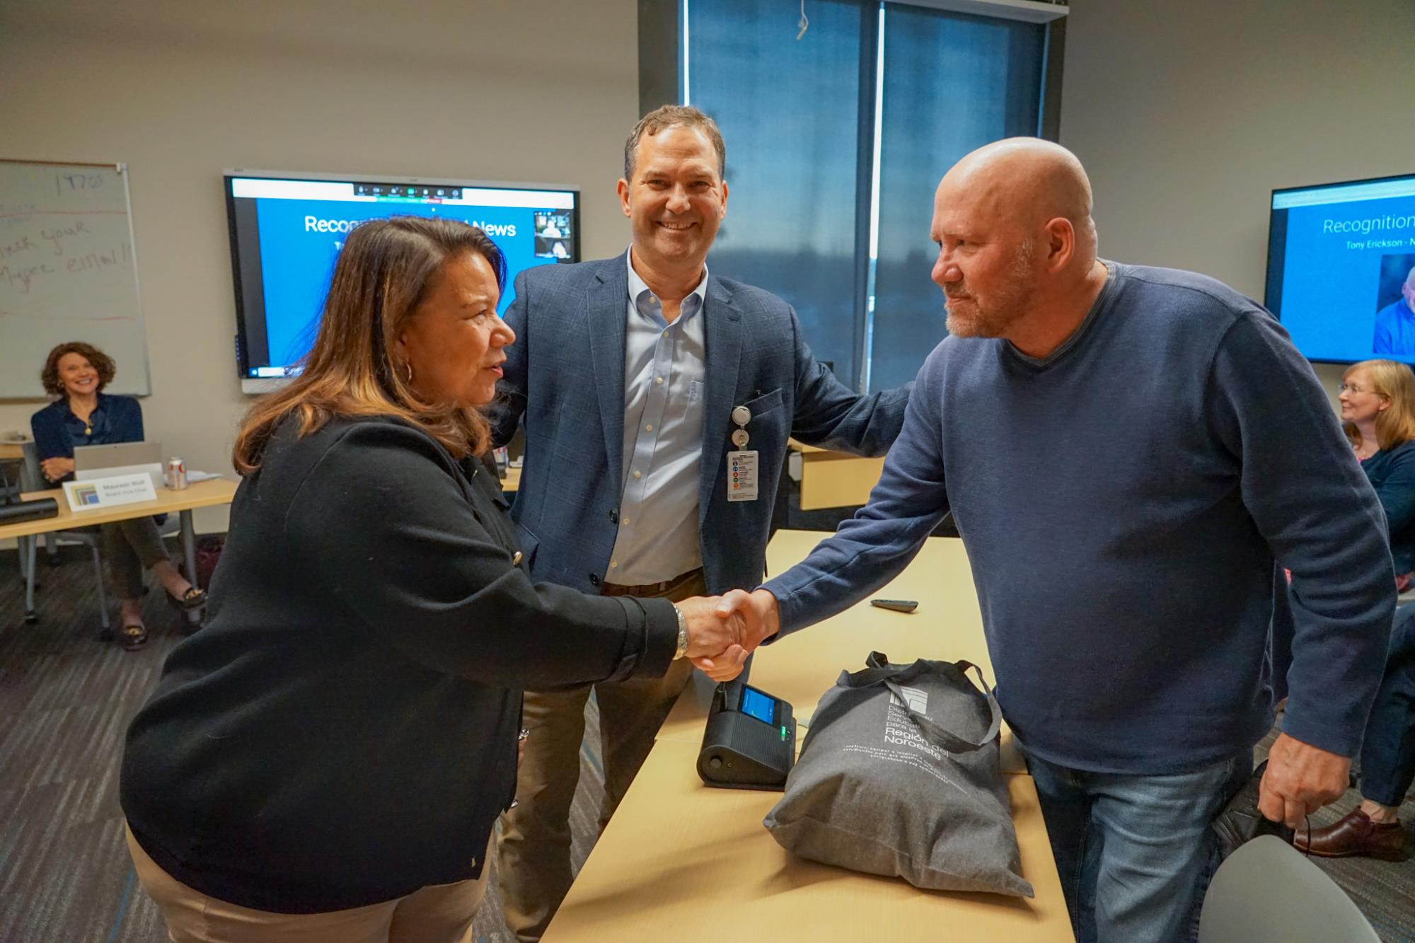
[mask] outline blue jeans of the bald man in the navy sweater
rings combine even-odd
[[[1252,752],[1173,776],[1092,773],[1027,755],[1077,943],[1187,943],[1217,867],[1210,825]]]

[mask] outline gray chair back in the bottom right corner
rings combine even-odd
[[[1199,943],[1381,943],[1351,898],[1306,855],[1261,835],[1228,855],[1204,896]]]

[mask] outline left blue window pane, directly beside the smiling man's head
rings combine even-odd
[[[855,204],[860,4],[811,0],[688,4],[688,98],[727,143],[727,217],[713,275],[792,304],[805,341],[845,382],[857,337]]]

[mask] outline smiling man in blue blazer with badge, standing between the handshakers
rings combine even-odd
[[[674,600],[756,586],[787,438],[882,455],[908,387],[862,396],[811,355],[795,312],[710,276],[727,208],[722,135],[693,108],[645,116],[618,181],[625,255],[522,272],[495,439],[525,426],[511,515],[536,579]],[[736,442],[734,442],[736,439]],[[692,671],[596,685],[608,820]],[[570,800],[589,688],[526,692],[518,806],[498,881],[508,926],[539,939],[570,886]]]

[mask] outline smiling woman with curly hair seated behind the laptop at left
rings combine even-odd
[[[92,344],[69,341],[50,351],[40,377],[44,389],[58,396],[30,416],[40,470],[52,484],[74,477],[74,447],[143,440],[143,408],[132,396],[110,396],[103,387],[113,381],[113,360]],[[123,647],[129,651],[147,643],[143,610],[143,571],[157,576],[168,598],[184,609],[207,602],[207,593],[192,586],[173,566],[157,524],[137,517],[103,524],[103,556],[108,559],[113,593],[122,609]]]

